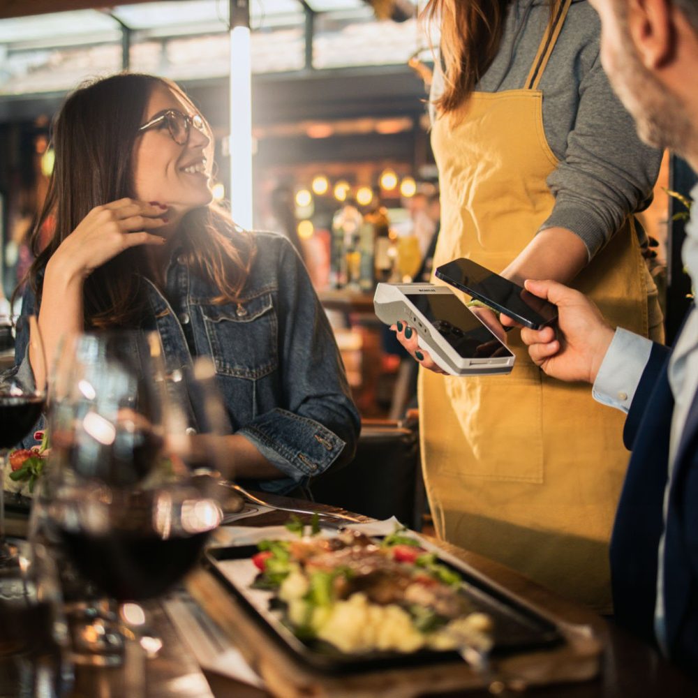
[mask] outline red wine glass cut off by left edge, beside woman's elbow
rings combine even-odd
[[[27,323],[27,355],[31,369],[14,366],[0,374],[0,567],[12,563],[14,553],[5,538],[5,465],[10,447],[31,432],[46,401],[46,360],[43,343],[35,315],[22,316],[19,323]],[[25,370],[26,369],[26,370]],[[13,480],[24,475],[31,477],[29,469],[20,475],[9,473]]]

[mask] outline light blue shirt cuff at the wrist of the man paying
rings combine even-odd
[[[651,340],[618,327],[591,390],[595,401],[628,413],[651,351]]]

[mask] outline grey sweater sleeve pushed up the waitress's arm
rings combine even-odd
[[[660,151],[639,140],[597,55],[579,83],[565,156],[547,179],[555,206],[539,232],[557,226],[572,230],[591,260],[628,214],[647,207],[661,159]]]

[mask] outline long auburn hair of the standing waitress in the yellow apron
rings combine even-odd
[[[551,20],[562,0],[549,0]],[[491,66],[502,40],[512,0],[429,0],[422,16],[438,22],[445,88],[436,99],[440,114],[454,112]]]

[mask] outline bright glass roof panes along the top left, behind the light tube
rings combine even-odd
[[[305,6],[317,13],[312,68],[406,64],[428,45],[414,17],[378,20],[364,0],[251,0],[253,73],[309,68]],[[122,24],[131,29],[131,70],[173,80],[224,77],[228,9],[229,0],[161,0],[0,20],[0,98],[67,90],[121,70]]]

